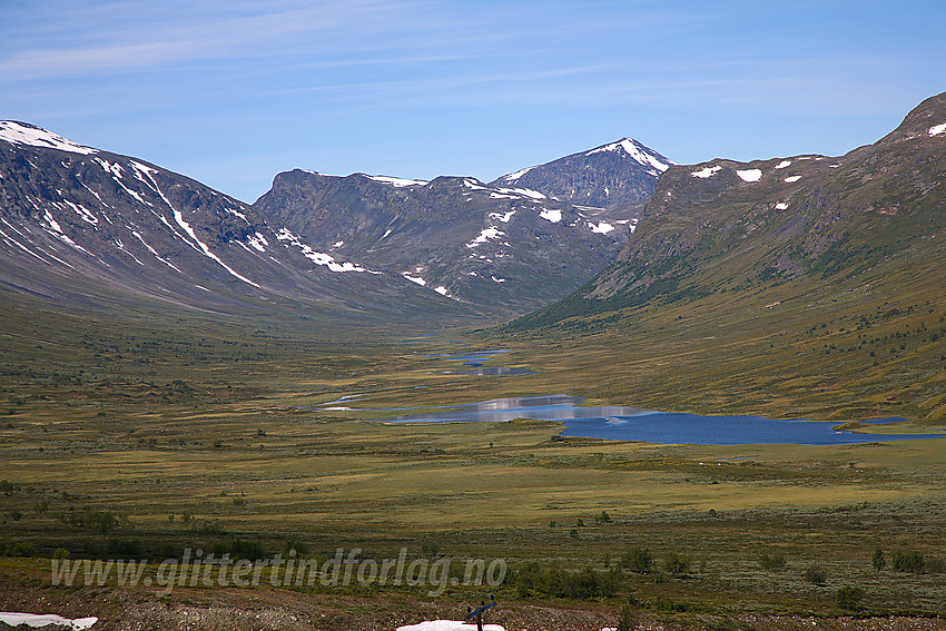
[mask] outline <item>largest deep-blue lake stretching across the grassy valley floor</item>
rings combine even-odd
[[[497,398],[427,414],[376,418],[386,423],[482,423],[536,418],[565,424],[563,436],[642,441],[658,444],[847,445],[915,438],[943,438],[946,434],[868,434],[835,431],[837,422],[773,421],[761,416],[702,416],[639,407],[581,407],[580,396],[551,395]],[[904,422],[881,418],[870,424]]]

